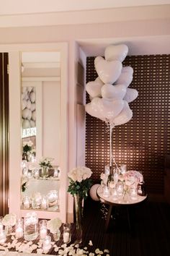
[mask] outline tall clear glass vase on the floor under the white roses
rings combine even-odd
[[[76,210],[76,244],[80,244],[82,241],[82,229],[83,229],[83,198],[77,194],[75,195],[75,210]]]

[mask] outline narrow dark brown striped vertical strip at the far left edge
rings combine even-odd
[[[9,197],[9,75],[8,54],[0,54],[0,214],[8,213]]]

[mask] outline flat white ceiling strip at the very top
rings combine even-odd
[[[0,0],[0,15],[70,12],[170,4],[170,0]]]

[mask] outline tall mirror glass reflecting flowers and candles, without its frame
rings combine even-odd
[[[60,53],[22,52],[22,202],[59,210]]]

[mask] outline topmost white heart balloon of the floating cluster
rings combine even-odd
[[[118,46],[107,46],[104,57],[107,61],[124,61],[128,54],[128,46],[120,44]]]

